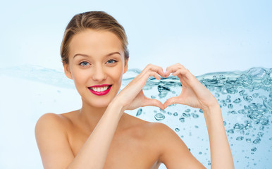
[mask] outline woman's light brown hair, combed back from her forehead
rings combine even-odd
[[[87,29],[106,30],[115,34],[121,41],[125,60],[129,57],[128,38],[125,29],[115,18],[104,11],[90,11],[75,15],[68,23],[61,42],[61,60],[68,64],[69,44],[74,35]]]

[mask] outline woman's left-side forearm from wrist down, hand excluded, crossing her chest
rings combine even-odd
[[[121,106],[111,102],[68,169],[103,168],[113,135],[122,115]]]

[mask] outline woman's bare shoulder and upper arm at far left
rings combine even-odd
[[[67,118],[46,113],[37,120],[35,137],[44,168],[64,168],[73,161],[66,132]]]

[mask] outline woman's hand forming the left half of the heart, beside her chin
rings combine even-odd
[[[159,75],[165,77],[161,67],[152,64],[147,65],[139,75],[120,91],[113,101],[117,101],[118,104],[121,104],[123,110],[134,110],[135,108],[144,106],[156,106],[164,109],[163,104],[161,104],[160,101],[147,98],[142,92],[142,88],[146,84],[148,78],[154,76],[159,80],[161,79]]]

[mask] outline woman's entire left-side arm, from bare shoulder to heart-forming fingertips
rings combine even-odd
[[[164,109],[160,101],[149,99],[142,92],[147,79],[150,76],[160,79],[159,75],[164,76],[162,68],[147,65],[142,73],[113,98],[92,134],[74,158],[60,122],[54,120],[57,119],[54,118],[54,114],[43,115],[37,122],[35,134],[44,168],[103,168],[113,135],[125,110],[140,106],[158,106]]]

